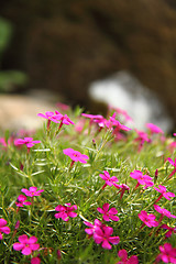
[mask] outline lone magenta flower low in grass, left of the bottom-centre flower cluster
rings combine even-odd
[[[75,212],[75,210],[77,210],[77,206],[74,205],[72,206],[69,202],[68,204],[65,204],[65,206],[61,206],[58,205],[56,208],[55,208],[56,211],[58,211],[58,213],[55,213],[55,218],[62,218],[64,221],[68,221],[69,220],[69,217],[70,218],[76,218],[77,217],[77,213]]]

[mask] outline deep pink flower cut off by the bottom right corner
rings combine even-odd
[[[176,263],[176,249],[172,248],[169,243],[158,246],[161,253],[156,257],[156,263],[163,261],[164,263]]]

